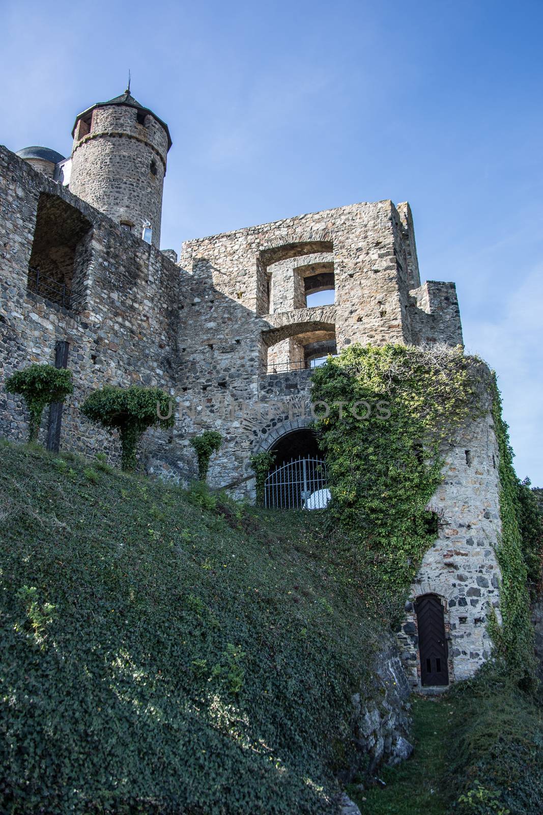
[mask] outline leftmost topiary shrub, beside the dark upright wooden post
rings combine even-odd
[[[62,403],[68,394],[73,393],[72,372],[68,368],[34,363],[8,377],[6,390],[23,397],[30,414],[28,441],[35,442],[42,423],[43,408],[53,402]]]

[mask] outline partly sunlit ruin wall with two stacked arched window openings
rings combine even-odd
[[[297,270],[307,274],[312,264],[323,263],[335,275],[335,305],[301,307],[303,277]],[[225,401],[253,405],[266,394],[266,407],[276,407],[275,427],[282,425],[287,433],[293,419],[309,424],[309,411],[289,416],[282,408],[282,401],[295,395],[300,405],[309,406],[305,372],[267,372],[269,363],[284,364],[289,355],[291,362],[300,359],[299,343],[292,341],[335,337],[338,351],[356,341],[410,342],[420,336],[419,322],[434,307],[425,302],[424,317],[418,315],[421,310],[409,293],[419,284],[409,207],[398,210],[386,200],[191,240],[183,245],[180,265],[184,280],[175,378],[177,404],[184,407],[178,407],[180,421],[173,430],[177,461],[162,469],[186,471],[191,460],[187,437],[219,430],[224,442],[210,469],[217,486],[250,476],[248,457],[268,432],[265,421],[247,411],[224,421],[219,406]],[[449,322],[440,333],[438,315],[434,329],[435,341],[448,341]],[[456,344],[458,337],[453,339]],[[202,409],[188,416],[187,408],[195,403]],[[251,494],[250,481],[240,487],[247,489]]]

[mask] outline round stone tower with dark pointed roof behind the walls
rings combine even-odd
[[[80,113],[72,130],[70,192],[160,247],[168,125],[125,93]]]

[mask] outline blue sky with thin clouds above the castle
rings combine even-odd
[[[409,200],[423,280],[458,286],[543,485],[543,3],[2,0],[7,147],[64,155],[124,90],[173,138],[162,245],[360,200]]]

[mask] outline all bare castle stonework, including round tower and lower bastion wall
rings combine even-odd
[[[353,342],[462,343],[455,287],[421,284],[409,205],[390,200],[190,240],[174,262],[158,249],[168,129],[133,103],[123,95],[77,117],[69,190],[0,148],[0,380],[54,363],[57,344],[68,342],[75,392],[63,412],[64,449],[107,452],[116,464],[118,443],[81,416],[82,400],[107,383],[159,385],[177,419],[169,432],[145,435],[142,469],[188,482],[190,438],[219,430],[209,481],[252,498],[249,456],[309,426],[313,361]],[[152,244],[121,224],[145,218]],[[333,290],[333,304],[311,306],[323,290]],[[27,419],[2,388],[0,432],[22,440]],[[474,422],[446,458],[432,502],[438,539],[413,597],[440,598],[453,681],[488,656],[486,615],[499,600],[491,422]],[[398,637],[414,687],[417,625],[409,605]]]

